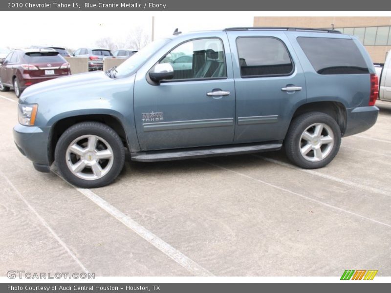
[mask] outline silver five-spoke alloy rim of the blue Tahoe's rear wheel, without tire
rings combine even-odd
[[[302,133],[299,141],[300,153],[305,160],[319,162],[325,159],[334,146],[334,133],[324,123],[314,123]]]

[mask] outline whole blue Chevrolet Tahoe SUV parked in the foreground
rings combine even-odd
[[[190,64],[174,66],[180,56]],[[377,95],[365,48],[336,31],[176,33],[107,72],[27,88],[14,138],[37,170],[56,161],[83,188],[114,181],[125,151],[151,162],[284,146],[297,166],[319,168],[341,137],[375,124]]]

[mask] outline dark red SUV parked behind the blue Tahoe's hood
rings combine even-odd
[[[27,86],[65,75],[70,75],[69,63],[59,52],[18,49],[0,62],[0,91],[8,91],[13,87],[19,98]]]

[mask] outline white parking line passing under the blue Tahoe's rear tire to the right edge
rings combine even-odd
[[[318,172],[318,171],[314,171],[314,170],[310,170],[310,169],[302,169],[302,168],[299,168],[299,167],[296,167],[296,166],[293,166],[291,164],[287,164],[287,163],[284,163],[284,162],[281,162],[281,161],[278,161],[278,160],[275,160],[275,159],[270,159],[270,158],[266,158],[266,157],[259,156],[259,155],[253,155],[253,156],[261,158],[262,160],[265,160],[265,161],[270,162],[270,163],[274,163],[274,164],[277,164],[277,165],[280,165],[280,166],[283,166],[283,167],[292,168],[292,169],[299,170],[299,171],[302,171],[302,172],[305,172],[305,173],[308,173],[308,174],[311,174],[311,175],[315,175],[315,176],[319,176],[319,177],[322,177],[322,178],[326,178],[328,180],[332,180],[332,181],[335,181],[335,182],[338,182],[338,183],[346,184],[346,185],[352,186],[354,188],[360,188],[360,189],[363,189],[363,190],[366,190],[366,191],[369,191],[369,192],[374,192],[374,193],[379,193],[379,194],[391,196],[391,192],[388,192],[388,191],[383,190],[383,189],[366,186],[366,185],[363,185],[363,184],[359,184],[359,183],[356,183],[356,182],[353,182],[353,181],[349,181],[349,180],[345,180],[345,179],[338,178],[338,177],[335,177],[335,176],[327,175],[327,174],[324,174],[324,173],[321,173],[321,172]]]

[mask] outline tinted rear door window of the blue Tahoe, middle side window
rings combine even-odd
[[[289,53],[282,41],[270,37],[238,38],[240,75],[287,75],[293,70]]]

